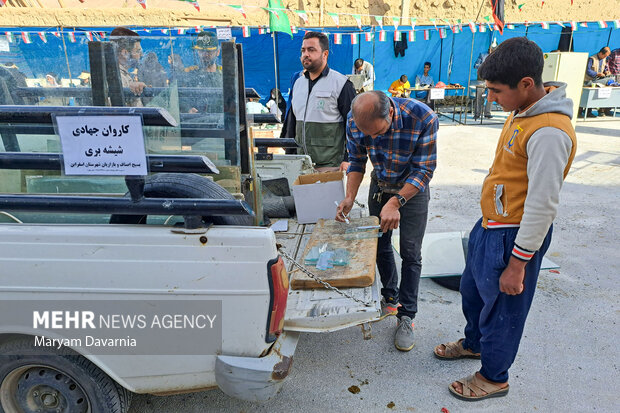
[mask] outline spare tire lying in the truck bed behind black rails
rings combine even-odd
[[[127,194],[127,196],[129,196]],[[196,174],[160,173],[146,177],[144,196],[147,198],[235,199],[217,183]],[[204,216],[206,224],[254,225],[249,215]],[[146,215],[112,215],[110,224],[145,224]]]

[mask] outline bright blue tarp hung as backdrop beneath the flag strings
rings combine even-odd
[[[389,27],[386,26],[386,29]],[[376,28],[375,28],[376,29]],[[50,30],[55,29],[36,29],[28,28],[31,43],[27,44],[21,38],[21,31],[14,30],[14,40],[10,43],[10,51],[0,52],[0,62],[9,61],[16,63],[29,77],[43,77],[48,71],[54,71],[60,77],[68,77],[66,59],[68,60],[71,74],[75,78],[82,70],[89,71],[88,68],[88,49],[86,47],[87,38],[84,31],[99,32],[104,31],[109,34],[109,28],[88,28],[76,31],[76,42],[71,43],[66,36],[63,41],[52,34]],[[36,31],[47,30],[47,43],[36,34]],[[191,49],[192,39],[196,33],[187,30],[185,34],[163,34],[161,30],[152,30],[146,33],[142,29],[136,29],[143,37],[142,47],[148,51],[154,51],[159,61],[165,69],[169,70],[168,55],[172,50],[179,54],[186,65],[195,64],[195,55]],[[306,30],[306,29],[304,29]],[[293,38],[287,34],[276,33],[276,55],[278,86],[286,92],[293,73],[301,69],[299,61],[299,51],[301,48],[304,30],[294,34]],[[310,30],[310,29],[307,29]],[[398,79],[402,74],[406,74],[411,83],[415,76],[422,73],[424,62],[431,63],[431,75],[435,82],[441,80],[444,83],[467,84],[468,79],[475,79],[476,72],[473,64],[482,52],[488,50],[489,45],[495,38],[498,43],[515,36],[524,36],[535,41],[543,50],[550,52],[558,48],[560,40],[560,26],[550,24],[549,29],[542,29],[538,25],[515,25],[512,30],[505,30],[502,36],[498,32],[486,31],[472,34],[469,27],[464,25],[463,31],[457,34],[446,30],[446,38],[440,39],[439,32],[433,26],[416,26],[416,39],[408,42],[405,56],[395,57],[394,55],[394,32],[386,30],[386,40],[379,41],[378,32],[375,32],[374,42],[367,42],[364,34],[358,36],[358,44],[351,44],[348,35],[356,32],[355,28],[327,28],[315,29],[330,33],[330,54],[328,63],[331,68],[348,74],[351,73],[353,61],[361,57],[374,64],[376,73],[375,88],[387,90],[390,83]],[[363,27],[364,32],[371,31],[369,26]],[[407,33],[411,27],[402,26],[399,30]],[[423,30],[428,30],[429,40],[424,40]],[[343,33],[342,43],[334,44],[333,33]],[[274,39],[271,34],[258,34],[257,29],[251,29],[251,37],[244,38],[241,28],[233,28],[232,35],[238,43],[243,45],[243,57],[245,64],[246,86],[255,88],[263,100],[268,99],[269,91],[275,87],[274,68]],[[474,39],[472,48],[472,38]],[[590,27],[579,27],[573,36],[574,50],[577,52],[587,52],[593,54],[603,46],[612,49],[620,47],[620,30],[613,27],[600,29],[590,23]],[[67,49],[65,56],[64,47]],[[585,68],[584,68],[585,70]]]

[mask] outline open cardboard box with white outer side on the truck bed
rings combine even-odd
[[[323,172],[300,175],[293,182],[297,222],[314,224],[320,218],[334,219],[336,204],[344,199],[344,173]]]

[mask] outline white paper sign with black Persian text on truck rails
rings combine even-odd
[[[66,175],[147,175],[140,116],[56,116]]]

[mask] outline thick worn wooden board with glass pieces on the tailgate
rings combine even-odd
[[[337,222],[333,219],[319,220],[314,225],[312,235],[308,240],[303,253],[298,256],[298,262],[303,264],[304,257],[314,246],[330,243],[334,248],[345,248],[349,251],[350,262],[345,267],[334,267],[325,271],[308,266],[308,270],[318,275],[334,287],[367,287],[375,280],[375,264],[377,256],[378,238],[345,239],[347,227],[379,225],[377,217],[352,219],[350,224]],[[367,231],[367,234],[376,234],[378,230]],[[352,234],[346,234],[347,236]],[[305,238],[305,237],[304,237]],[[291,271],[291,288],[294,290],[324,288],[321,284],[301,272],[299,269]]]

